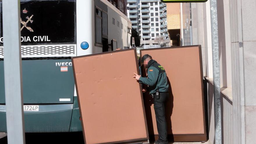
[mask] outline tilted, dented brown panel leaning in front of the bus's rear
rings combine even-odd
[[[147,142],[136,51],[72,58],[86,144]]]

